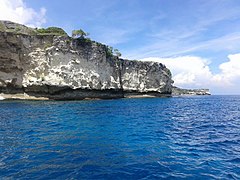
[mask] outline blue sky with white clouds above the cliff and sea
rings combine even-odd
[[[164,63],[176,86],[240,94],[240,0],[0,0],[0,20],[81,28],[123,58]]]

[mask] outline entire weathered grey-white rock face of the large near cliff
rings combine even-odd
[[[119,59],[100,43],[37,35],[25,26],[27,33],[16,33],[14,23],[9,32],[6,24],[0,24],[0,93],[50,99],[171,94],[171,73],[161,63]]]

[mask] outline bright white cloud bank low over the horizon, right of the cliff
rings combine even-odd
[[[165,64],[172,72],[174,85],[183,88],[210,88],[215,94],[240,93],[240,53],[228,56],[229,61],[219,65],[219,73],[214,74],[210,61],[196,56],[173,58],[144,58]]]

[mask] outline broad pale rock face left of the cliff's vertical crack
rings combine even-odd
[[[58,38],[54,39],[54,42],[60,42],[56,46],[36,48],[29,54],[31,68],[24,74],[24,87],[47,84],[72,89],[121,89],[119,62],[110,62],[103,46],[91,43],[84,48],[73,49],[66,44],[68,39]]]

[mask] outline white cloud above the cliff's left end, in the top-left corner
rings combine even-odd
[[[45,14],[45,8],[36,11],[27,7],[23,0],[0,0],[0,20],[39,27],[46,22]]]

